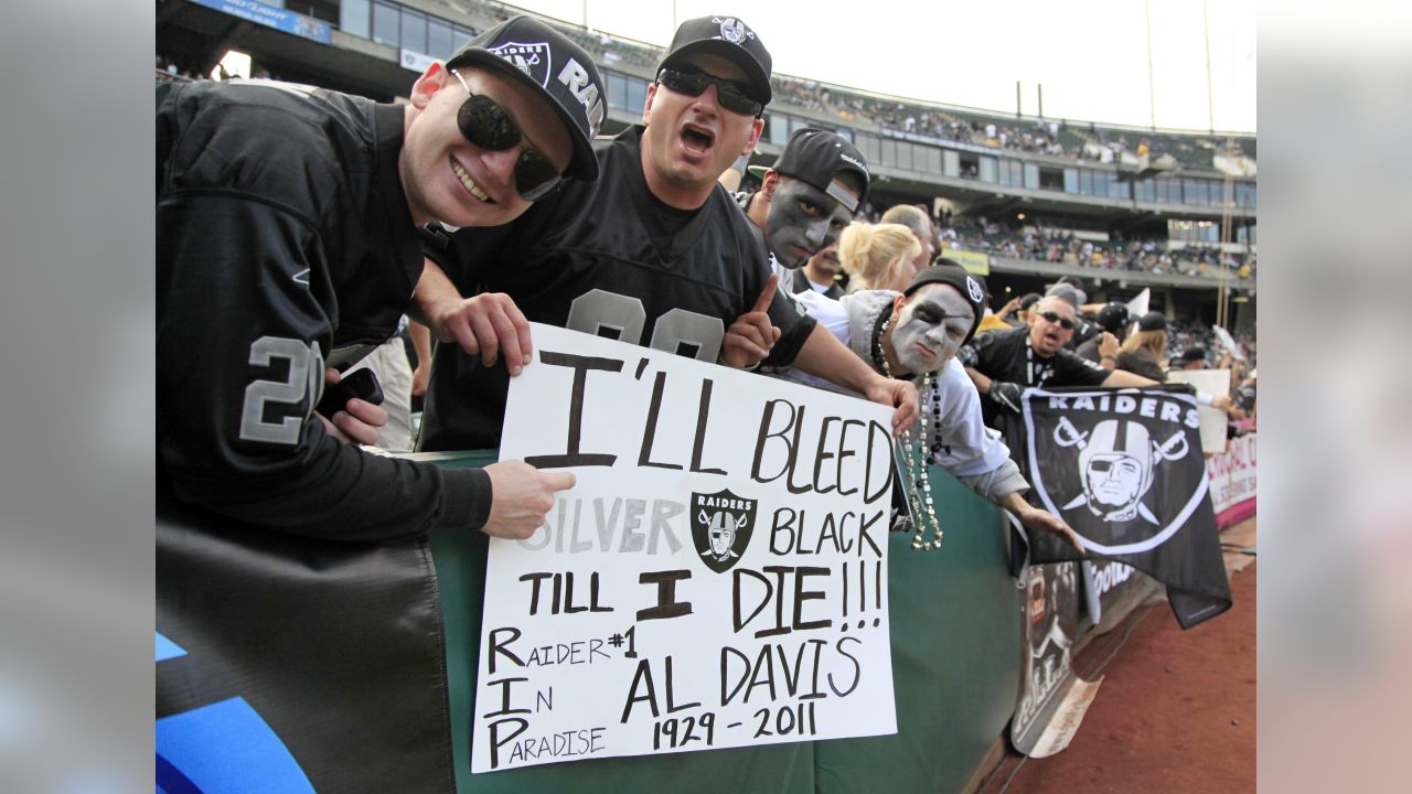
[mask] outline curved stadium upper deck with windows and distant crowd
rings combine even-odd
[[[480,0],[158,0],[157,49],[201,73],[239,49],[282,79],[393,100],[431,59],[515,13],[521,10]],[[604,131],[637,122],[662,51],[548,21],[599,59],[609,90]],[[1186,247],[1202,250],[1202,261],[1211,261],[1207,251],[1214,249],[1230,254],[1195,270],[1096,271],[1075,257],[1012,256],[993,246],[994,233],[962,235],[960,243],[986,250],[1001,274],[1082,274],[1114,287],[1165,288],[1178,300],[1196,292],[1209,298],[1216,277],[1228,273],[1238,291],[1254,292],[1254,278],[1237,270],[1255,243],[1254,136],[1004,114],[786,75],[774,82],[755,162],[772,162],[801,126],[834,129],[874,170],[874,216],[911,202],[995,226],[1001,240],[1062,229],[1100,251],[1155,240],[1178,259]],[[1223,260],[1233,263],[1228,271]]]

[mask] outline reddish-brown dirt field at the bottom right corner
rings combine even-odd
[[[1247,524],[1221,540],[1247,545],[1248,534],[1252,547],[1254,521]],[[1103,675],[1103,688],[1069,749],[1038,760],[1011,753],[980,790],[1254,791],[1255,565],[1230,579],[1230,612],[1189,632],[1163,600],[1093,640],[1075,670],[1086,680]]]

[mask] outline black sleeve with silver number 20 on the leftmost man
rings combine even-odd
[[[322,250],[306,220],[268,203],[157,203],[157,446],[175,496],[337,540],[479,528],[484,470],[369,455],[313,415],[336,305]]]

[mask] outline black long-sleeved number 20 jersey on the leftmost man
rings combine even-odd
[[[476,528],[483,470],[371,456],[312,415],[387,339],[422,254],[402,110],[275,82],[157,86],[158,499],[291,533]]]

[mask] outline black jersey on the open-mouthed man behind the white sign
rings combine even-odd
[[[594,143],[600,177],[568,182],[508,226],[460,229],[428,254],[463,295],[505,292],[525,318],[706,362],[770,277],[750,220],[717,185],[690,213],[672,212],[647,186],[641,134],[633,127]],[[777,292],[781,329],[772,360],[792,362],[813,321]],[[421,449],[500,444],[508,372],[439,345],[426,391]]]

